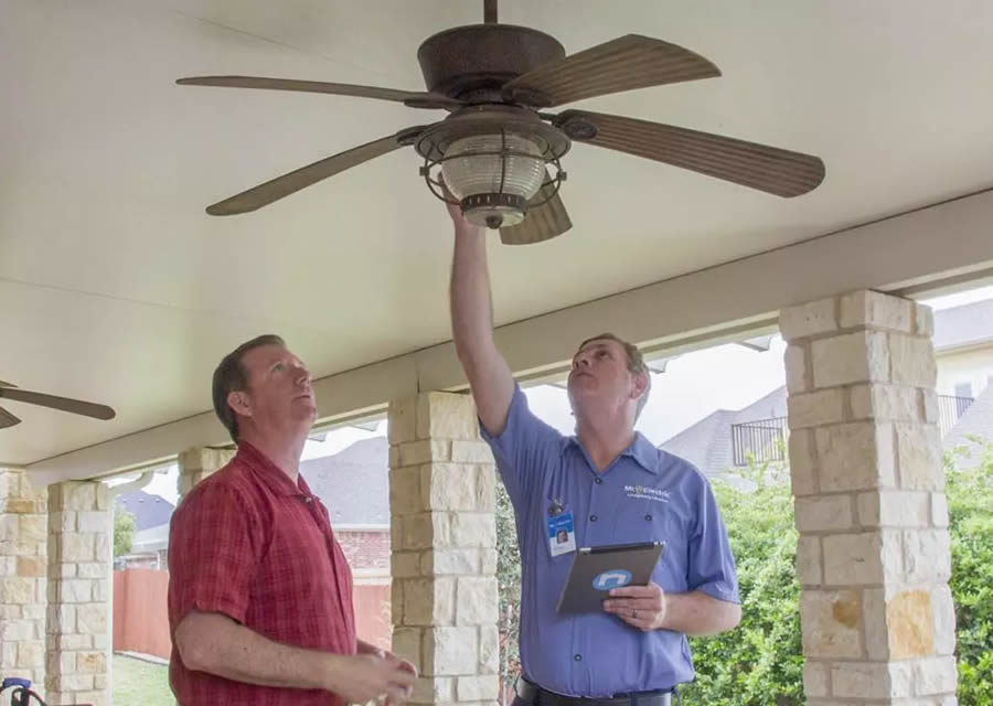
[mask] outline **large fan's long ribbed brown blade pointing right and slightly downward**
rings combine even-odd
[[[570,120],[596,127],[596,137],[576,138],[581,142],[690,169],[777,196],[805,194],[824,180],[824,162],[811,154],[586,110],[566,110],[555,118],[555,125],[568,133]]]

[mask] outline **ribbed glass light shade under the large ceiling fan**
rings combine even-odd
[[[502,150],[515,153],[500,153]],[[476,135],[455,140],[445,157],[441,176],[459,201],[479,194],[509,194],[526,202],[545,180],[541,149],[519,135]],[[508,205],[479,205],[466,213],[471,223],[479,225],[487,225],[492,216],[500,216],[504,226],[524,220],[520,210]]]

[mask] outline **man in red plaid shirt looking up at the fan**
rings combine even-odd
[[[180,706],[401,704],[414,667],[356,639],[351,570],[299,474],[317,416],[310,373],[279,336],[259,336],[221,362],[213,396],[238,452],[172,517]]]

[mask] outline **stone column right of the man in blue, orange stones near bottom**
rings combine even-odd
[[[874,291],[786,309],[810,706],[957,703],[931,311]]]

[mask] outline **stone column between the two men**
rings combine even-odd
[[[414,704],[498,697],[494,493],[471,397],[389,404],[393,648],[421,674]]]

